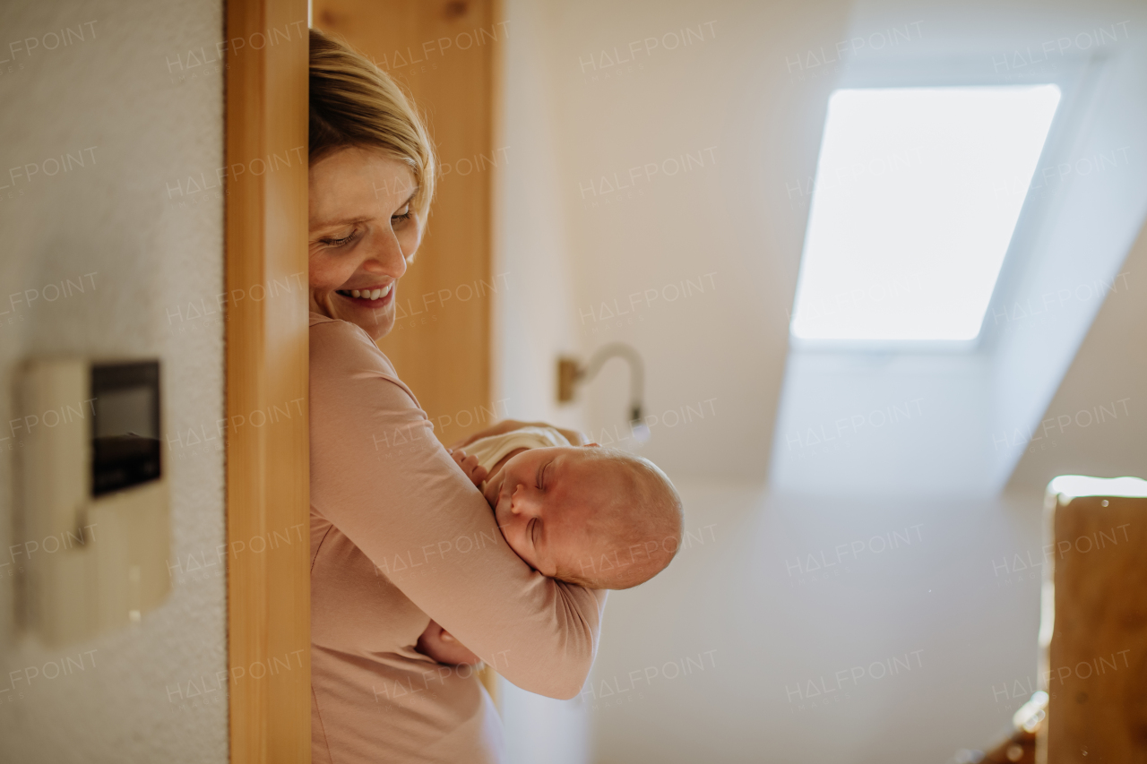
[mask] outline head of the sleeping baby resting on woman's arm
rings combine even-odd
[[[502,536],[533,569],[587,588],[629,588],[669,564],[681,500],[664,473],[624,451],[530,449],[485,485]]]

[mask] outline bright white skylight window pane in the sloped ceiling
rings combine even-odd
[[[974,340],[1059,101],[1055,85],[834,92],[793,334]]]

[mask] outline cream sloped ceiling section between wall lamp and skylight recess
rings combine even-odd
[[[830,89],[790,80],[785,59],[844,36],[848,5],[554,5],[583,352],[642,353],[645,455],[674,476],[762,480],[804,233],[786,182],[816,163]],[[624,434],[625,390],[611,361],[585,391],[603,443]]]

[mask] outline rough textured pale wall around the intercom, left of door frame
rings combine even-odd
[[[0,6],[0,186],[8,186],[0,188],[0,311],[8,311],[0,313],[0,420],[10,419],[14,372],[25,357],[158,358],[163,435],[213,430],[224,406],[224,327],[218,315],[193,317],[188,305],[214,305],[223,291],[223,195],[196,192],[187,178],[212,178],[224,164],[223,69],[210,62],[223,39],[223,3],[18,0]],[[53,34],[67,29],[64,46]],[[85,165],[49,177],[49,159],[68,153],[83,153]],[[9,172],[25,164],[40,171]],[[83,294],[31,305],[9,299],[80,278]],[[172,566],[186,569],[192,556],[203,563],[224,540],[217,444],[190,446],[185,436],[185,445],[165,449]],[[14,530],[18,447],[18,438],[0,441],[3,549],[26,540]],[[52,650],[19,629],[17,578],[6,562],[10,556],[0,559],[0,691],[10,671],[24,676],[62,656],[83,653],[86,668],[54,679],[41,672],[0,692],[0,761],[227,759],[225,693],[206,692],[226,666],[218,566],[177,568],[169,599],[136,627]],[[204,694],[180,700],[180,692]]]

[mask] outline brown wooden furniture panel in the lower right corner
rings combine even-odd
[[[1147,499],[1080,497],[1052,512],[1040,761],[1147,762]]]

